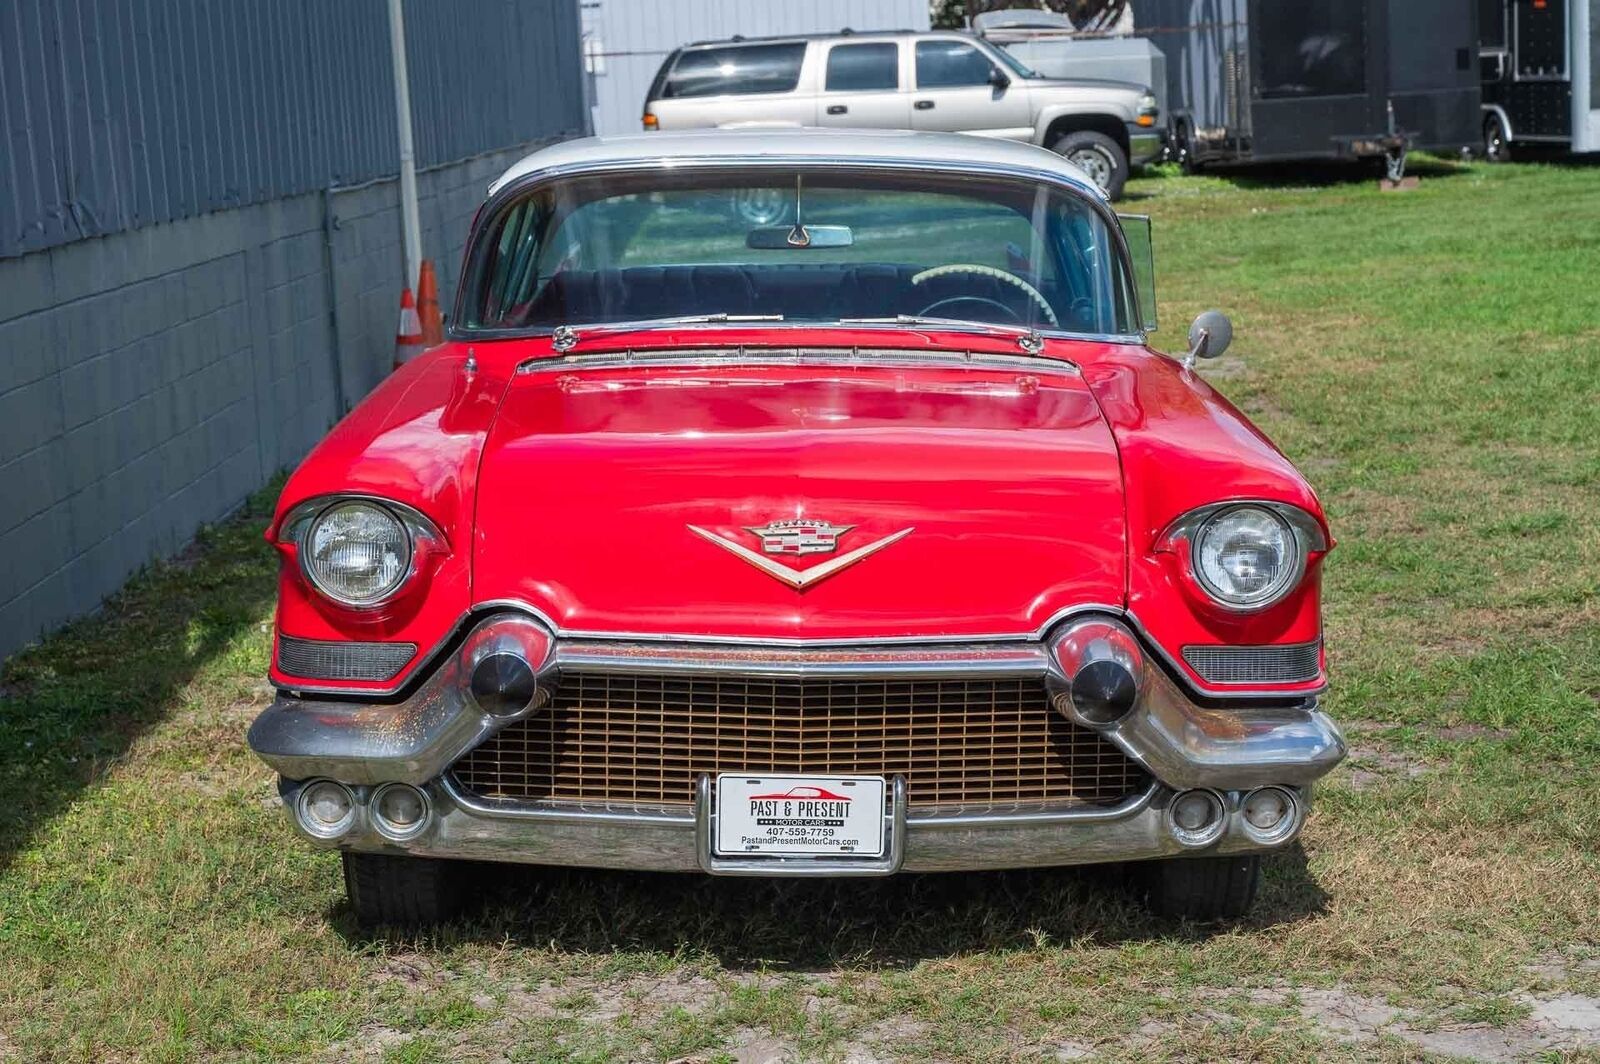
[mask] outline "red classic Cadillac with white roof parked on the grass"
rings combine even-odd
[[[459,859],[1133,862],[1162,912],[1243,912],[1344,757],[1333,541],[1190,368],[1226,318],[1147,346],[1152,277],[1149,221],[1022,144],[653,134],[507,171],[448,342],[267,530],[250,744],[357,915],[445,915]]]

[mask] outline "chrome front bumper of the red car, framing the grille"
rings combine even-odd
[[[496,626],[528,626],[520,616],[488,618],[464,646],[483,645]],[[1066,622],[1110,626],[1133,640],[1115,618]],[[1035,677],[1059,685],[1061,658],[1051,643],[893,648],[725,648],[557,640],[541,666],[550,678],[563,672],[723,670],[742,675],[794,677]],[[462,651],[466,654],[466,651]],[[1222,830],[1205,853],[1258,851],[1288,843],[1304,822],[1310,784],[1342,760],[1338,726],[1314,699],[1294,706],[1224,709],[1189,699],[1150,658],[1138,662],[1136,707],[1109,725],[1091,726],[1155,779],[1117,806],[1018,803],[997,806],[909,808],[904,781],[885,811],[888,851],[872,862],[838,859],[728,859],[710,851],[715,808],[702,778],[694,805],[619,806],[573,802],[499,802],[464,792],[450,776],[454,765],[498,730],[522,715],[496,718],[466,691],[470,659],[445,659],[406,699],[355,704],[280,696],[250,730],[251,749],[283,776],[291,819],[306,781],[346,784],[357,814],[338,838],[301,834],[318,845],[347,850],[411,853],[531,864],[614,869],[702,870],[728,875],[886,875],[899,870],[1008,869],[1032,866],[1138,861],[1195,853],[1171,830],[1171,798],[1187,789],[1211,790],[1226,810]],[[538,712],[531,709],[528,712]],[[1069,715],[1072,715],[1069,712]],[[430,806],[418,834],[395,842],[371,822],[366,802],[384,782],[422,790]],[[1262,843],[1240,816],[1243,795],[1277,786],[1293,795],[1296,822]]]

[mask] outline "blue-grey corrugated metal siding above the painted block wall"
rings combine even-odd
[[[408,0],[418,163],[584,131],[576,6]],[[384,0],[0,0],[0,258],[395,168]]]

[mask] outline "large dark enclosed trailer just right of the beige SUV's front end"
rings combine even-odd
[[[1589,0],[1584,0],[1589,2]],[[1187,163],[1458,152],[1482,134],[1475,0],[1131,0]]]

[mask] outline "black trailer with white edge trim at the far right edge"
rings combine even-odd
[[[1600,152],[1600,0],[1478,0],[1483,150]]]

